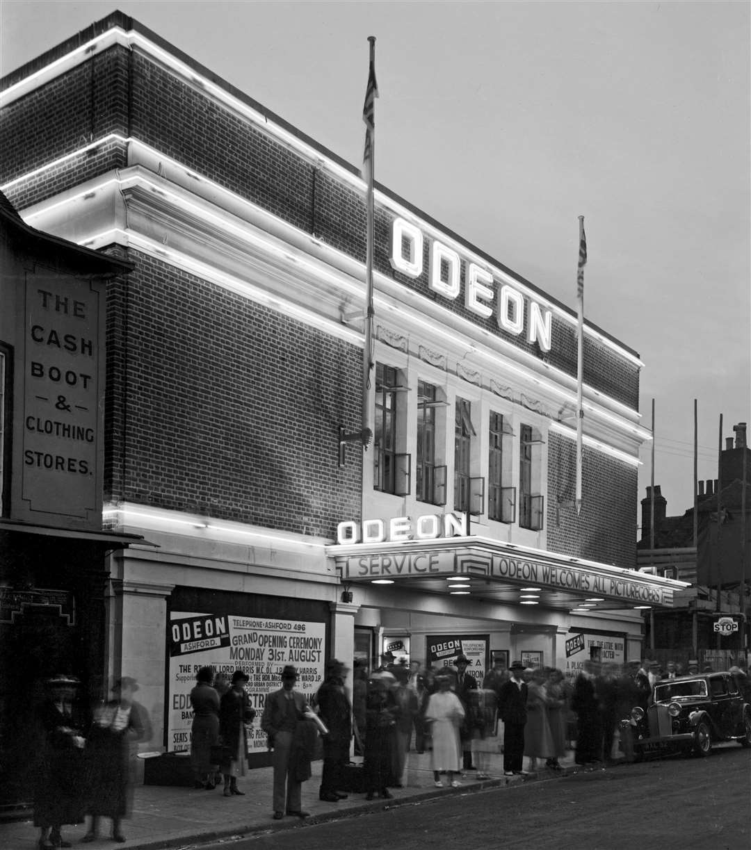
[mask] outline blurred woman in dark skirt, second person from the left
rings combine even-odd
[[[83,842],[97,837],[101,817],[112,819],[112,838],[124,842],[122,819],[131,808],[134,761],[132,745],[151,738],[151,723],[143,706],[133,699],[138,683],[123,676],[112,686],[114,699],[94,711],[88,734],[88,814],[91,826]]]

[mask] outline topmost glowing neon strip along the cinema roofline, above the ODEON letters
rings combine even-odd
[[[151,39],[145,37],[143,33],[136,30],[124,31],[119,26],[101,33],[89,42],[71,50],[69,54],[62,56],[59,59],[55,59],[49,65],[46,65],[44,68],[30,74],[29,77],[25,77],[19,82],[14,83],[14,85],[9,86],[9,88],[7,88],[3,93],[0,93],[0,104],[8,105],[9,103],[12,103],[15,99],[23,97],[35,88],[53,80],[55,77],[60,76],[60,74],[65,73],[65,71],[71,70],[71,68],[80,65],[82,62],[87,61],[96,54],[102,53],[104,50],[111,48],[115,44],[119,44],[128,49],[137,49],[150,56],[157,63],[180,77],[187,85],[190,85],[191,88],[195,88],[203,94],[208,94],[208,96],[217,100],[222,105],[225,105],[225,107],[230,111],[235,112],[237,115],[242,116],[247,121],[253,123],[253,126],[257,127],[262,133],[265,133],[266,135],[282,142],[282,144],[287,145],[287,147],[296,150],[299,155],[304,156],[304,158],[311,163],[319,167],[325,167],[327,171],[335,174],[337,178],[347,184],[350,184],[356,188],[356,190],[362,192],[366,190],[367,186],[361,176],[356,172],[356,169],[344,167],[344,165],[333,158],[333,155],[327,155],[325,150],[316,147],[314,144],[306,142],[304,139],[300,138],[299,134],[293,133],[286,127],[283,127],[282,124],[279,123],[278,119],[275,122],[273,120],[273,116],[271,116],[270,119],[268,114],[264,111],[253,108],[247,100],[231,94],[231,92],[225,88],[225,85],[213,82],[213,79],[202,74],[200,71],[197,71],[194,66],[182,61],[173,53],[160,47],[155,42],[151,41]],[[88,145],[88,147],[90,146],[91,145]],[[38,170],[39,169],[37,169],[37,172]],[[16,178],[13,182],[17,182],[18,179],[20,178]],[[421,216],[418,211],[405,207],[395,197],[384,193],[382,190],[375,190],[375,198],[378,205],[390,209],[391,212],[401,218],[407,218],[413,223],[418,224],[420,229],[423,229],[424,232],[429,234],[434,240],[441,241],[444,245],[449,246],[464,255],[465,258],[469,258],[470,261],[490,270],[492,275],[494,275],[498,280],[509,283],[509,285],[514,286],[515,289],[526,292],[528,297],[531,297],[538,303],[544,304],[546,308],[555,313],[560,320],[566,321],[566,323],[570,326],[577,326],[577,316],[573,314],[572,311],[564,309],[560,303],[546,297],[544,292],[529,286],[526,281],[520,277],[517,277],[513,273],[509,274],[508,269],[500,268],[500,266],[494,263],[491,258],[483,256],[473,246],[448,233],[446,230],[441,229],[440,226],[436,226],[436,224],[432,223],[428,218]],[[644,366],[644,363],[640,360],[640,358],[636,357],[631,351],[623,348],[623,346],[619,345],[614,340],[606,337],[600,331],[597,331],[594,327],[585,325],[584,332],[601,345],[616,352],[624,360],[628,360],[629,363],[635,367],[640,369]]]

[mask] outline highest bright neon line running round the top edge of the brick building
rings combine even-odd
[[[149,41],[149,39],[140,35],[138,32],[131,31],[123,31],[120,27],[113,27],[111,30],[102,33],[99,37],[92,39],[82,47],[76,48],[71,51],[71,54],[60,57],[60,59],[56,59],[50,65],[47,65],[45,68],[40,69],[39,71],[34,72],[29,77],[26,77],[24,80],[20,80],[15,83],[13,86],[10,86],[3,93],[3,99],[5,102],[9,102],[14,99],[16,96],[20,97],[22,92],[26,88],[30,88],[30,82],[35,82],[36,80],[42,80],[43,77],[47,77],[51,79],[52,77],[57,76],[60,73],[73,65],[77,65],[78,63],[88,59],[91,54],[94,52],[101,51],[102,49],[108,48],[111,44],[120,43],[125,47],[133,48],[134,46],[138,46],[141,48],[145,54],[151,54],[155,59],[161,61],[164,65],[166,65],[172,71],[175,71],[180,77],[183,77],[185,81],[191,82],[194,85],[197,84],[203,91],[212,94],[215,99],[218,99],[233,111],[240,113],[241,115],[247,117],[253,124],[257,127],[261,128],[263,132],[268,133],[272,136],[277,136],[281,139],[285,144],[289,147],[292,147],[296,150],[299,150],[306,158],[310,161],[314,161],[320,165],[325,165],[329,171],[332,173],[336,173],[339,178],[344,179],[347,183],[356,186],[358,189],[362,189],[365,186],[365,181],[361,177],[357,177],[355,173],[352,173],[350,170],[339,165],[338,162],[329,159],[325,154],[321,152],[321,150],[317,150],[312,147],[310,144],[305,143],[302,139],[299,139],[294,133],[290,133],[285,130],[283,127],[277,125],[276,123],[270,123],[267,116],[263,113],[253,109],[253,107],[247,105],[242,101],[242,99],[236,98],[234,95],[230,94],[217,85],[215,82],[212,82],[207,77],[203,77],[201,74],[197,73],[193,70],[189,65],[186,65],[184,62],[177,59],[173,54],[168,53],[168,51],[159,48],[154,44],[154,42]],[[56,71],[54,69],[57,69]],[[483,266],[490,266],[493,269],[493,274],[497,275],[502,280],[506,280],[511,283],[516,288],[521,289],[526,292],[528,297],[533,297],[536,301],[544,303],[548,309],[554,312],[559,316],[562,320],[567,321],[569,324],[576,324],[576,316],[567,313],[564,309],[560,308],[555,303],[549,302],[548,299],[544,296],[542,292],[537,292],[536,290],[532,290],[529,286],[526,286],[524,282],[521,280],[517,280],[515,277],[509,275],[507,272],[498,269],[498,267],[492,263],[488,262],[486,258],[481,258],[478,256],[471,247],[464,245],[463,242],[460,242],[452,236],[443,233],[441,230],[435,228],[435,225],[430,224],[429,222],[424,221],[415,215],[412,210],[407,210],[405,207],[402,207],[397,201],[392,200],[388,195],[384,195],[381,191],[376,190],[376,194],[378,195],[378,201],[383,207],[389,207],[393,212],[398,213],[399,215],[404,216],[405,218],[412,219],[412,221],[421,222],[421,229],[424,229],[426,232],[429,232],[433,239],[438,239],[443,244],[452,243],[452,245],[457,246],[459,251],[466,254],[476,261],[476,263],[481,264]],[[598,331],[595,331],[592,328],[585,326],[585,332],[590,336],[595,337],[595,339],[602,345],[605,345],[607,348],[611,348],[616,351],[623,359],[629,360],[632,364],[636,365],[638,368],[642,368],[644,363],[638,358],[634,357],[634,354],[631,354],[629,351],[625,350],[625,348],[621,348],[617,343],[613,342],[611,339],[604,337]]]

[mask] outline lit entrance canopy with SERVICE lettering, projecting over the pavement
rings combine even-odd
[[[685,581],[484,537],[327,547],[341,581],[566,611],[672,608]],[[469,586],[461,587],[460,585]]]

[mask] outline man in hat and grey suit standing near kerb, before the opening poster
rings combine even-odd
[[[297,670],[287,665],[282,670],[282,688],[266,695],[261,728],[269,736],[274,748],[274,819],[281,820],[284,813],[307,818],[302,810],[303,786],[291,769],[293,757],[293,735],[295,727],[310,711],[303,694],[294,690]]]

